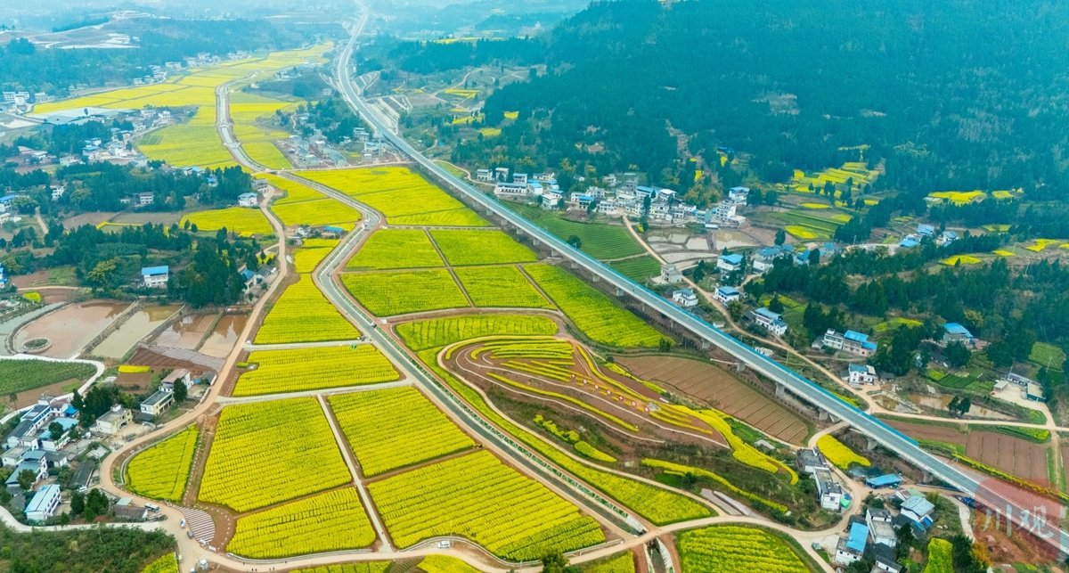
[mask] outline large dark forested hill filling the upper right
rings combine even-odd
[[[668,184],[671,126],[695,136],[691,153],[753,154],[773,181],[859,144],[887,159],[881,181],[896,188],[1069,181],[1064,3],[623,0],[538,42],[548,73],[485,104],[487,124],[521,112],[494,142],[516,153],[536,142],[542,156],[600,172],[633,164]]]

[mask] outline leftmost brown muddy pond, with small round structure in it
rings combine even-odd
[[[34,338],[47,338],[52,345],[42,356],[71,358],[118,316],[128,303],[87,300],[67,305],[27,324],[15,334],[15,347]]]

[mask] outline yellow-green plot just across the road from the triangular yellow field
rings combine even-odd
[[[346,273],[342,283],[376,316],[470,306],[449,270]]]

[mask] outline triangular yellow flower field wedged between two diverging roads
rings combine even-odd
[[[308,275],[278,297],[257,330],[257,344],[353,340],[360,336],[323,296]]]

